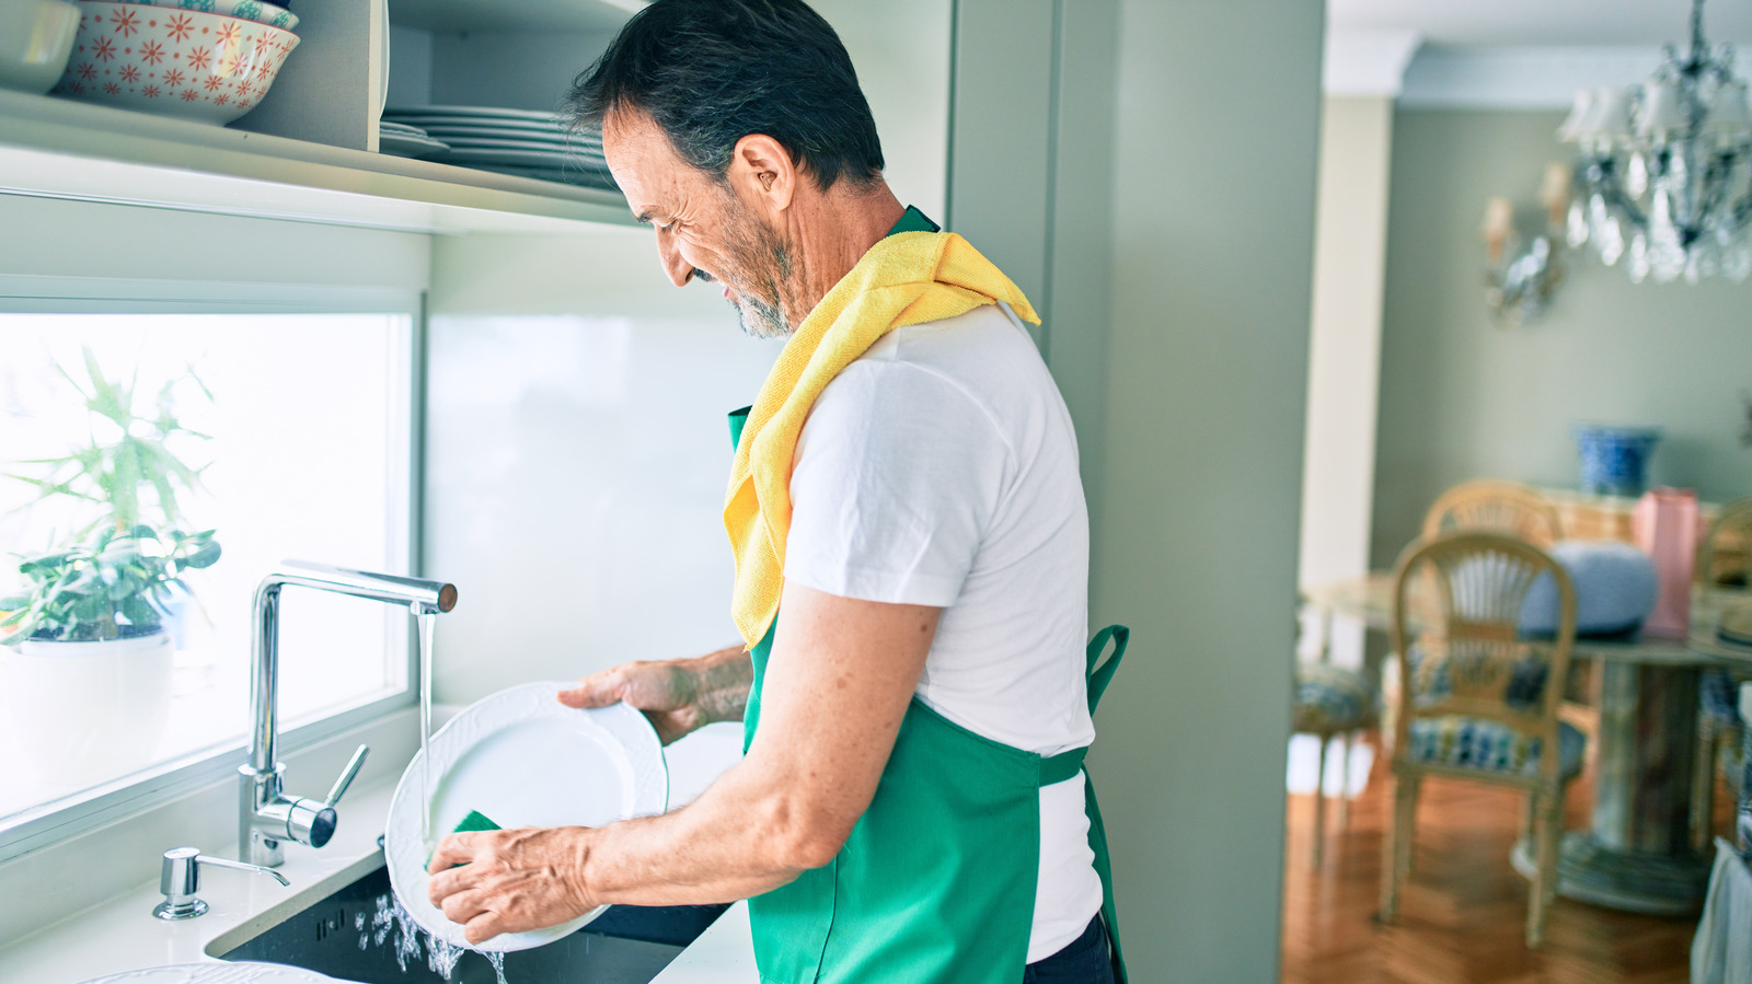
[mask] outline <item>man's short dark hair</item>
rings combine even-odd
[[[736,142],[764,133],[820,189],[883,168],[876,119],[839,35],[802,0],[657,0],[573,82],[562,112],[599,128],[648,114],[676,154],[724,180]]]

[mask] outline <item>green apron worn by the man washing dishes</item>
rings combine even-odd
[[[732,439],[741,439],[746,413],[731,415]],[[1088,646],[1091,714],[1128,637],[1127,627],[1111,625]],[[1100,662],[1109,641],[1113,657]],[[773,630],[767,630],[750,650],[755,676],[743,716],[745,751],[760,725],[771,651]],[[876,797],[839,854],[748,900],[760,980],[1021,980],[1041,867],[1041,786],[1072,779],[1086,751],[1055,756],[1021,751],[969,732],[913,699]],[[1107,833],[1086,772],[1083,795],[1114,979],[1125,984]]]

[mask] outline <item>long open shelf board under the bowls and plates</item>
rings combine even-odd
[[[613,191],[5,89],[0,194],[427,233],[632,222]]]

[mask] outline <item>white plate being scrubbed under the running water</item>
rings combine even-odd
[[[426,898],[426,858],[470,811],[499,826],[603,826],[655,816],[669,802],[662,744],[645,714],[615,704],[576,711],[555,695],[569,683],[526,683],[485,697],[431,737],[431,832],[420,835],[426,753],[413,756],[389,802],[384,854],[401,905],[431,935],[477,951],[538,947],[603,914],[470,944]]]

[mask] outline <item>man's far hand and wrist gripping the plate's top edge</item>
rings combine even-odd
[[[743,720],[753,665],[741,646],[694,660],[620,664],[561,690],[568,707],[606,707],[625,700],[645,711],[657,737],[669,744],[713,721]]]

